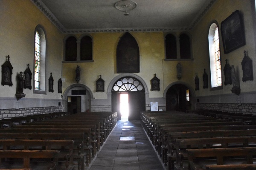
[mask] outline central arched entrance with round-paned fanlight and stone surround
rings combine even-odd
[[[142,91],[130,91],[127,90],[127,88],[124,90],[120,91],[112,91],[113,87],[119,82],[120,80],[122,81],[123,79],[128,78],[128,79],[133,79],[132,81],[127,81],[127,84],[129,84],[127,87],[131,87],[135,81],[138,81],[140,85],[143,86]],[[125,82],[122,82],[124,85]],[[118,86],[122,86],[119,84]],[[137,84],[135,84],[137,86]],[[137,86],[138,87],[138,86]],[[135,88],[137,88],[135,87]],[[129,88],[128,88],[129,89]],[[148,92],[148,88],[144,82],[144,80],[137,76],[136,74],[120,74],[116,76],[110,84],[108,85],[108,94],[111,94],[111,105],[112,105],[112,111],[117,111],[118,114],[118,119],[121,118],[120,114],[120,94],[126,93],[128,94],[128,100],[129,100],[129,120],[140,120],[140,111],[145,111],[145,94]]]

